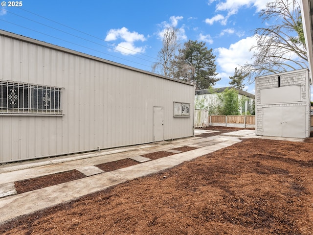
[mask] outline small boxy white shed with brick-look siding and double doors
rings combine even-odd
[[[308,69],[257,77],[255,90],[256,135],[310,137]]]

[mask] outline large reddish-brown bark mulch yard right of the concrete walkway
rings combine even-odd
[[[312,221],[313,138],[248,139],[20,216],[0,225],[0,234],[308,235]]]

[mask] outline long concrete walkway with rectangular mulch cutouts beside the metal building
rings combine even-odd
[[[174,141],[162,141],[160,143],[115,148],[87,154],[1,165],[0,224],[20,215],[52,207],[137,177],[174,167],[185,161],[190,161],[240,142],[240,138],[259,138],[255,136],[254,130],[234,131],[208,138],[197,137],[197,135],[207,132],[215,131],[196,130],[195,137]],[[181,146],[192,146],[197,147],[197,149],[187,152],[175,152],[174,150],[174,155],[153,161],[141,156],[157,151],[173,152],[173,148]],[[126,158],[134,159],[140,164],[111,172],[103,172],[95,166]],[[16,194],[14,188],[14,182],[16,181],[73,169],[79,170],[88,177]]]

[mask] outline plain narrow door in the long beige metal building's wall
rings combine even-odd
[[[164,141],[164,107],[153,107],[153,141]]]

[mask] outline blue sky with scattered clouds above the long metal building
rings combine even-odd
[[[1,5],[3,5],[3,1]],[[250,61],[252,30],[268,0],[23,0],[0,6],[0,29],[151,71],[162,31],[204,41],[216,56],[215,87],[229,86],[235,68]],[[254,84],[246,84],[254,94]]]

